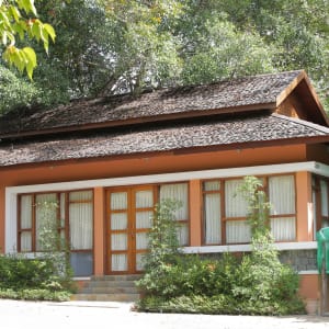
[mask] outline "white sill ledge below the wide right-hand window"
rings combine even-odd
[[[317,249],[316,241],[308,242],[276,242],[273,245],[276,250],[307,250]],[[184,253],[223,253],[223,252],[248,252],[251,251],[251,245],[229,245],[229,246],[201,246],[184,247]]]

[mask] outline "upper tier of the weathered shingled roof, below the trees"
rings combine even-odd
[[[122,126],[192,117],[214,113],[274,109],[282,94],[305,77],[302,70],[240,78],[218,83],[162,89],[129,94],[78,100],[48,111],[0,118],[0,138],[13,136]]]

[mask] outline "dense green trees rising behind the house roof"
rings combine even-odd
[[[49,57],[31,42],[31,105],[300,68],[329,105],[328,0],[39,0],[38,14],[58,36]]]

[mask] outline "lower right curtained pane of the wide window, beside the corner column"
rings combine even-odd
[[[271,218],[271,231],[275,241],[293,241],[296,239],[296,218]]]

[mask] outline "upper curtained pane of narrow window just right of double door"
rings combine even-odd
[[[182,203],[175,212],[175,218],[188,219],[189,217],[189,202],[188,202],[188,184],[166,184],[160,186],[160,201],[161,200],[177,200]]]

